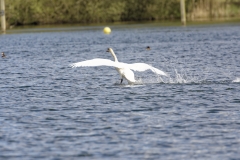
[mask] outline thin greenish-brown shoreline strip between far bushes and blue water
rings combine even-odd
[[[233,24],[239,25],[239,19],[232,20],[216,20],[216,21],[189,21],[186,27],[191,26],[201,26],[201,25],[225,25]],[[180,27],[182,26],[179,21],[145,21],[145,22],[115,22],[115,23],[90,23],[90,24],[44,24],[44,25],[21,25],[15,26],[7,30],[7,34],[15,33],[33,33],[33,32],[58,32],[58,31],[102,31],[104,26],[109,26],[112,28],[114,33],[114,28],[122,29],[134,29],[134,28],[149,28],[149,27]]]

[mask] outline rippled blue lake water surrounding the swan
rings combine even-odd
[[[103,27],[0,35],[0,159],[240,158],[239,23]],[[69,67],[108,47],[170,77]]]

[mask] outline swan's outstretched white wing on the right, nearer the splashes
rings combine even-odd
[[[143,72],[146,70],[151,70],[156,74],[160,74],[163,76],[168,76],[166,73],[164,73],[163,71],[154,68],[146,63],[133,63],[133,64],[125,64],[129,69],[134,70],[134,71],[138,71],[138,72]]]

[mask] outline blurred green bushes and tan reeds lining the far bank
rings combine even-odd
[[[180,19],[180,0],[6,0],[8,25]],[[240,0],[185,0],[188,20],[239,17]]]

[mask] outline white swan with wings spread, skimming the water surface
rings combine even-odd
[[[157,68],[154,68],[146,63],[127,64],[127,63],[118,62],[117,56],[113,52],[112,48],[108,48],[107,52],[110,52],[112,54],[114,61],[111,61],[109,59],[96,58],[96,59],[92,59],[92,60],[73,63],[73,64],[70,64],[70,66],[72,68],[74,68],[74,67],[94,67],[94,66],[115,67],[121,76],[121,83],[123,81],[123,78],[125,78],[129,84],[134,84],[136,82],[133,71],[142,72],[142,71],[146,71],[146,70],[151,70],[156,74],[168,76],[163,71],[161,71]],[[133,71],[131,71],[131,70],[133,70]]]

